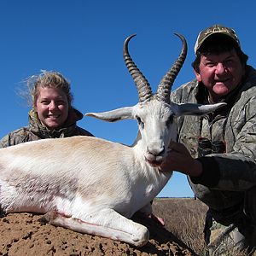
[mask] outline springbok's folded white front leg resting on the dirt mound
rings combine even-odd
[[[44,215],[49,224],[81,233],[125,241],[137,247],[148,242],[149,232],[145,226],[125,218],[113,209],[102,209],[90,217],[90,220],[72,218],[59,212],[48,212]]]

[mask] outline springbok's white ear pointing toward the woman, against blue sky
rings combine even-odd
[[[115,122],[122,119],[133,119],[133,107],[117,108],[101,113],[85,113],[84,115],[101,119],[108,122]]]

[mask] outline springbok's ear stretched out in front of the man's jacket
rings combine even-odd
[[[227,103],[216,103],[210,105],[193,104],[193,103],[183,103],[177,104],[172,102],[172,110],[176,116],[181,115],[205,115],[215,111],[217,108],[222,108],[226,106]]]

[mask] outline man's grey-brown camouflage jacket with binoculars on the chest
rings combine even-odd
[[[207,90],[196,80],[172,92],[172,102],[207,104]],[[242,205],[247,191],[256,191],[256,70],[246,67],[242,82],[224,99],[227,106],[204,117],[177,118],[177,141],[190,154],[198,156],[198,138],[224,141],[224,154],[208,154],[198,158],[203,166],[201,177],[189,177],[195,196],[215,211]],[[256,216],[256,194],[250,194]],[[254,218],[256,218],[254,216]]]

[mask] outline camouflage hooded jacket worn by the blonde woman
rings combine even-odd
[[[83,118],[83,114],[74,108],[69,111],[67,121],[60,130],[50,131],[46,126],[41,124],[38,114],[33,110],[28,113],[28,117],[28,126],[9,132],[8,135],[0,140],[0,148],[45,138],[73,137],[79,135],[93,136],[89,131],[76,125],[77,121]]]

